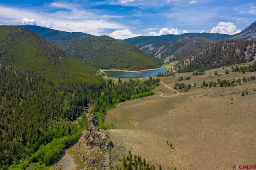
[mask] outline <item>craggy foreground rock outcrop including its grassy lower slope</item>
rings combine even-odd
[[[110,170],[110,152],[114,147],[110,137],[99,130],[98,119],[90,115],[84,131],[78,142],[72,147],[74,156],[78,158],[80,165],[76,169],[81,170]]]

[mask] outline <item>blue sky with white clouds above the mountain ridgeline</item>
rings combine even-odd
[[[140,35],[242,31],[255,0],[6,0],[1,25],[38,25],[126,39]]]

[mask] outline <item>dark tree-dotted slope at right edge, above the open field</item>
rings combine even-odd
[[[176,64],[177,72],[206,70],[232,64],[253,61],[256,54],[256,41],[225,40],[215,43],[185,61]]]

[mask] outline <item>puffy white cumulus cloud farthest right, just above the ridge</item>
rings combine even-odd
[[[236,30],[236,25],[231,22],[220,22],[216,27],[213,27],[210,33],[221,33],[221,34],[229,34],[233,35],[236,33],[240,33],[241,30]]]

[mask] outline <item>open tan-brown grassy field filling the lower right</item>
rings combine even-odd
[[[229,74],[225,74],[226,69]],[[214,75],[216,70],[219,75]],[[192,86],[196,82],[197,87],[177,95],[160,84],[154,89],[154,96],[128,101],[108,111],[105,123],[114,124],[114,129],[107,130],[114,146],[124,147],[124,154],[128,150],[140,154],[147,162],[156,167],[161,164],[164,169],[217,170],[255,165],[256,80],[233,88],[200,86],[203,80],[250,77],[256,73],[216,70],[207,70],[202,76],[184,73],[160,78],[174,88],[180,76],[190,76],[190,80],[181,82]],[[248,94],[241,96],[246,88]]]

